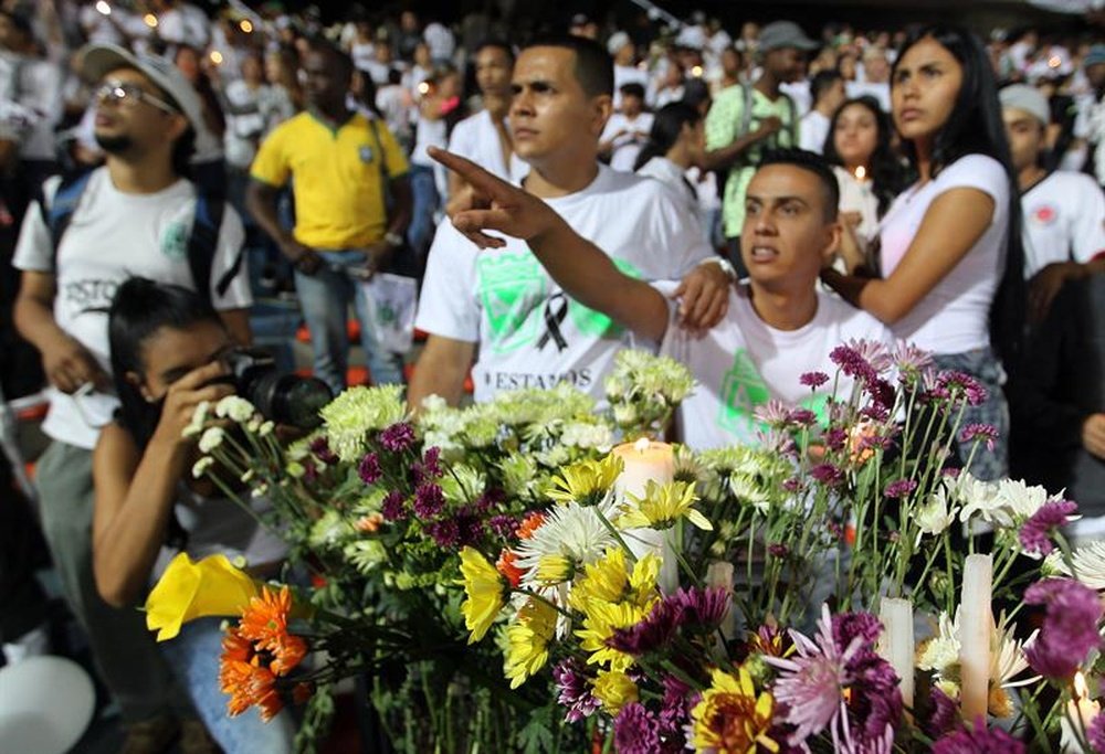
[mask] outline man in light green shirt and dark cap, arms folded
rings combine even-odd
[[[798,146],[798,113],[780,91],[806,73],[806,53],[817,42],[797,23],[776,21],[764,26],[758,54],[762,73],[755,84],[723,89],[706,115],[705,168],[728,171],[722,198],[722,226],[730,259],[744,274],[740,229],[745,222],[745,190],[760,156],[779,147]]]

